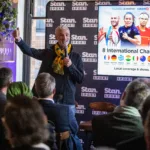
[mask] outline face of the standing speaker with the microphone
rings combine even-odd
[[[70,42],[70,31],[65,29],[58,30],[56,33],[56,40],[60,47],[66,48]]]

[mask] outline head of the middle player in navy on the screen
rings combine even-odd
[[[134,24],[134,19],[135,19],[134,15],[131,12],[127,12],[124,15],[125,27],[131,27]]]

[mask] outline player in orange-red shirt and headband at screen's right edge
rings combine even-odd
[[[149,15],[146,12],[142,12],[139,16],[139,26],[137,26],[141,35],[141,45],[140,46],[149,46],[150,45],[150,29],[146,27],[149,20]]]

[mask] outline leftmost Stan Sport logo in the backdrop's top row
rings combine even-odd
[[[51,2],[50,11],[64,11],[65,6],[64,2]]]

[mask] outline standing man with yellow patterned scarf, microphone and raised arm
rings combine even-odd
[[[58,26],[55,30],[57,43],[50,49],[37,50],[30,48],[21,38],[19,29],[13,32],[13,37],[21,51],[35,59],[41,60],[39,73],[50,73],[56,80],[57,103],[68,104],[75,108],[76,83],[82,83],[84,78],[83,62],[80,55],[73,52],[70,42],[70,30],[67,26]]]

